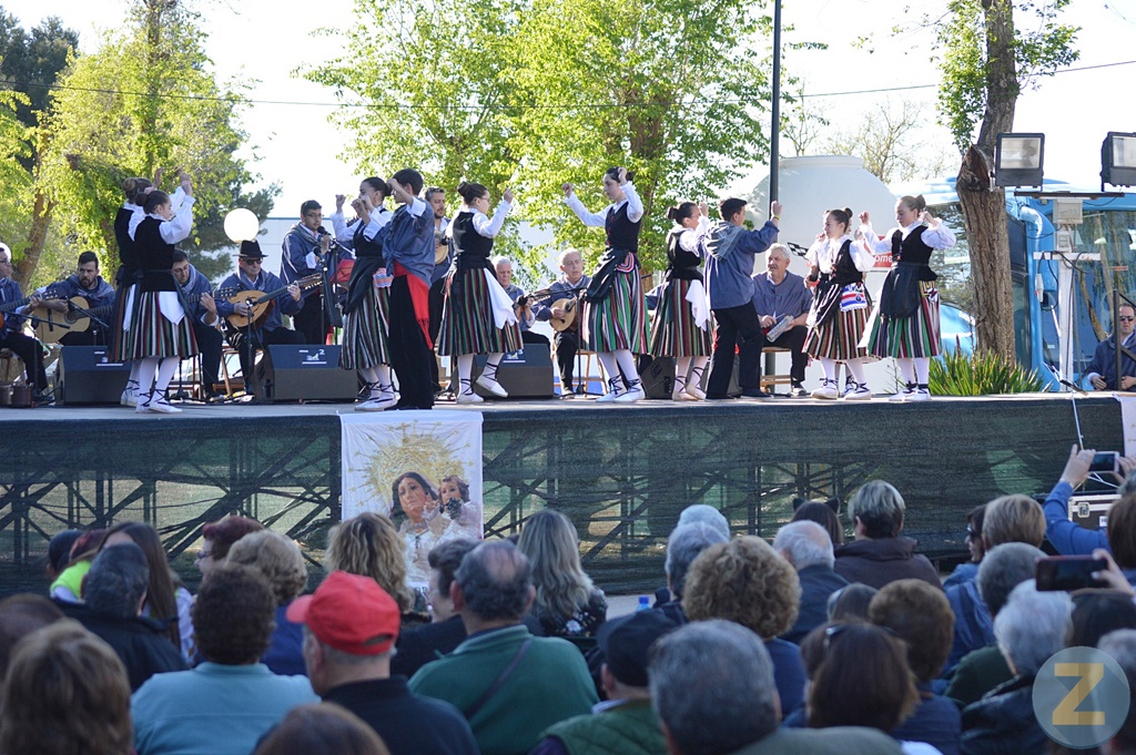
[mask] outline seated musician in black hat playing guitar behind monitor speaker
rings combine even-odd
[[[275,300],[267,302],[270,307],[267,308],[264,321],[253,319],[251,327],[248,328],[237,328],[232,324],[225,326],[228,342],[236,349],[241,358],[241,374],[244,376],[245,393],[253,395],[257,393],[257,378],[253,370],[257,349],[279,344],[308,343],[302,333],[289,330],[281,319],[281,313],[294,316],[300,311],[300,287],[293,283],[285,288],[278,277],[261,269],[264,259],[265,254],[260,251],[260,244],[256,241],[242,241],[241,255],[236,261],[236,272],[225,278],[218,286],[219,290],[226,292],[281,292]],[[252,305],[249,302],[237,301],[234,304],[229,301],[231,299],[233,299],[233,294],[228,299],[217,299],[217,314],[224,318],[232,314],[244,317],[252,314]]]

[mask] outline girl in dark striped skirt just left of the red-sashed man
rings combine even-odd
[[[352,242],[356,262],[348,282],[348,299],[343,304],[343,350],[340,367],[359,370],[367,384],[367,393],[356,404],[357,411],[382,411],[398,401],[391,379],[391,358],[387,350],[387,308],[391,287],[381,286],[383,240],[379,230],[391,221],[392,212],[383,207],[387,193],[382,178],[364,178],[359,198],[351,202],[359,221],[354,224]],[[376,279],[376,274],[379,274]]]

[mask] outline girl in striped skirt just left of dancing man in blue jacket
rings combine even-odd
[[[709,225],[708,215],[705,204],[700,208],[694,202],[667,210],[667,217],[678,225],[667,234],[667,280],[651,324],[651,354],[675,358],[670,395],[675,401],[707,395],[699,384],[710,362],[710,305],[699,272],[702,258],[698,244]]]

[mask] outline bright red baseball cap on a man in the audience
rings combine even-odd
[[[399,638],[399,604],[370,577],[333,571],[315,595],[287,606],[289,621],[308,624],[325,645],[351,655],[386,653]]]

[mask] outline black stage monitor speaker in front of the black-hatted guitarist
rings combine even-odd
[[[354,401],[359,379],[340,368],[340,346],[276,345],[257,364],[262,397],[274,401]]]

